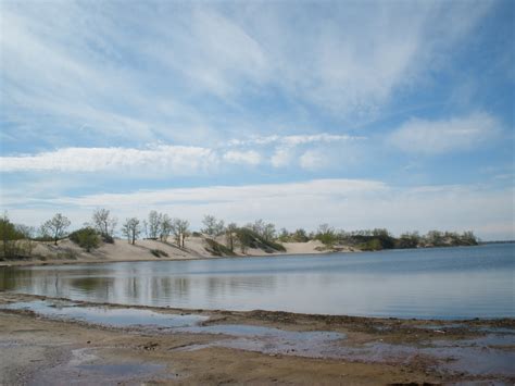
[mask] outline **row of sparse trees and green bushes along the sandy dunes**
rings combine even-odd
[[[324,250],[338,250],[351,247],[355,250],[381,250],[394,248],[429,248],[451,246],[475,246],[479,240],[473,232],[462,234],[455,232],[430,231],[425,235],[418,232],[404,233],[399,237],[388,229],[364,229],[346,232],[322,224],[315,232],[307,233],[303,228],[289,232],[276,229],[273,223],[256,220],[242,226],[236,223],[225,224],[213,215],[205,215],[200,232],[191,232],[189,222],[173,219],[166,213],[151,211],[147,219],[126,219],[120,231],[130,244],[140,238],[172,242],[185,248],[188,236],[202,236],[208,242],[208,250],[213,254],[230,256],[239,250],[247,253],[248,249],[261,249],[268,253],[286,251],[281,242],[307,242],[319,240]],[[0,258],[30,257],[35,241],[58,241],[70,238],[87,251],[98,248],[102,242],[114,242],[117,219],[106,209],[97,209],[91,222],[81,228],[68,233],[71,222],[61,213],[46,221],[39,228],[13,224],[7,213],[0,219]],[[168,241],[169,239],[169,241]]]

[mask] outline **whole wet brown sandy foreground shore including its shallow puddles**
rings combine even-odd
[[[1,307],[41,299],[0,292]],[[47,300],[52,307],[61,301]],[[515,321],[510,319],[443,322],[68,306],[104,315],[141,309],[149,317],[188,316],[188,322],[116,326],[105,316],[96,323],[0,310],[0,384],[515,382],[510,365]]]

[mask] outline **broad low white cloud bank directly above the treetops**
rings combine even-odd
[[[278,227],[314,229],[329,223],[344,229],[387,227],[394,234],[430,229],[472,229],[487,239],[514,238],[513,187],[486,186],[393,187],[377,180],[315,179],[300,183],[248,186],[210,186],[97,194],[83,197],[5,197],[13,221],[37,225],[61,211],[79,226],[98,207],[121,219],[147,216],[156,209],[201,225],[212,213],[240,224],[265,219]],[[4,206],[7,203],[3,203]]]

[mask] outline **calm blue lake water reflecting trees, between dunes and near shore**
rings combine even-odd
[[[515,317],[515,245],[0,267],[0,289],[188,309]]]

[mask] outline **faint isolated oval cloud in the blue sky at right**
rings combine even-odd
[[[478,148],[499,133],[499,122],[487,113],[445,121],[412,119],[389,136],[389,142],[406,152],[438,154]]]

